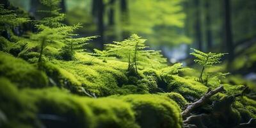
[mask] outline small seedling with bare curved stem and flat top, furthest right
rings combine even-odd
[[[191,48],[192,49],[192,48]],[[202,52],[196,49],[192,49],[194,52],[190,53],[191,55],[195,56],[195,63],[198,63],[202,66],[202,70],[200,72],[199,81],[204,83],[203,74],[205,71],[205,67],[212,67],[215,64],[221,63],[221,58],[227,53],[214,53],[214,52]]]

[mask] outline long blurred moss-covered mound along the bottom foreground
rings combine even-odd
[[[167,97],[92,99],[58,88],[19,90],[1,78],[3,127],[181,127],[179,106]]]

